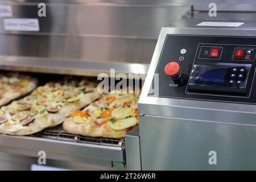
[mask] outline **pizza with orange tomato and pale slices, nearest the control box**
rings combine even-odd
[[[138,99],[135,93],[108,93],[77,110],[63,123],[68,133],[89,137],[124,138],[138,125]]]

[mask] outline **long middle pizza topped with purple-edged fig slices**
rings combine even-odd
[[[30,135],[62,123],[73,111],[100,97],[96,84],[82,79],[48,82],[0,110],[0,133]]]

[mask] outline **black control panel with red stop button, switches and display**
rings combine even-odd
[[[253,37],[167,35],[148,96],[254,104],[255,56]]]

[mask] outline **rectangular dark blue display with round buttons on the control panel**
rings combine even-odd
[[[251,64],[194,64],[188,90],[246,96],[250,70]]]

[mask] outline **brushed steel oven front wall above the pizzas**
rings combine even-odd
[[[47,15],[39,18],[37,5],[11,1],[13,18],[38,18],[39,32],[5,31],[0,18],[0,55],[15,57],[1,57],[3,69],[97,76],[115,68],[146,75],[160,28],[191,11],[184,5],[47,1]],[[66,62],[57,66],[59,60]]]

